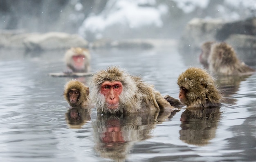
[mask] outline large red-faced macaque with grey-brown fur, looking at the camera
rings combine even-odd
[[[116,66],[101,70],[92,77],[92,100],[98,113],[135,113],[171,110],[163,96],[140,77]]]

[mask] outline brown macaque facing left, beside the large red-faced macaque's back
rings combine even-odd
[[[222,95],[207,71],[195,67],[188,68],[180,74],[177,84],[180,87],[179,99],[187,107],[220,106]]]

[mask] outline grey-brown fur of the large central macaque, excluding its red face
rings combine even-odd
[[[123,91],[119,95],[118,109],[106,108],[105,98],[100,93],[100,87],[104,81],[122,83]],[[145,83],[140,77],[132,76],[116,66],[94,74],[92,84],[92,100],[96,103],[99,113],[134,113],[171,108],[171,105],[153,88],[153,85]]]

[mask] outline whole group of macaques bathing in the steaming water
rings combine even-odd
[[[220,107],[222,94],[209,72],[228,76],[250,75],[255,70],[241,62],[225,42],[205,42],[201,48],[199,60],[206,69],[191,67],[180,74],[177,79],[180,101],[168,95],[163,97],[153,85],[117,66],[93,74],[91,97],[89,88],[78,80],[65,85],[64,97],[71,107],[88,107],[94,103],[102,114],[173,111],[174,107],[183,106]],[[66,60],[73,72],[90,69],[90,54],[84,48],[71,48]]]

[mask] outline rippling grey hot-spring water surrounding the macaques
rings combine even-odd
[[[256,74],[222,81],[230,103],[225,107],[181,109],[158,116],[158,122],[158,114],[97,116],[92,109],[70,121],[68,116],[78,112],[67,109],[62,93],[71,78],[47,75],[65,69],[63,53],[0,50],[1,162],[256,160]],[[92,71],[119,65],[175,98],[176,79],[190,66],[175,47],[92,50],[91,55]],[[191,65],[200,66],[195,60]],[[88,83],[88,77],[78,79]],[[108,138],[110,130],[115,142]]]

